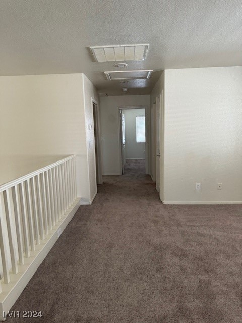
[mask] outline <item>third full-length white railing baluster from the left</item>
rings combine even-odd
[[[20,183],[19,193],[20,193],[20,203],[21,203],[21,211],[22,211],[25,257],[29,258],[30,251],[29,251],[29,233],[28,233],[28,222],[27,222],[28,212],[27,212],[25,182]]]

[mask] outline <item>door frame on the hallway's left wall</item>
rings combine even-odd
[[[97,184],[102,184],[102,150],[101,150],[101,135],[100,135],[100,116],[99,116],[99,107],[98,102],[92,97],[92,120],[93,120],[93,139],[94,143],[96,145],[96,149],[94,147],[94,163],[95,163],[95,176],[96,176],[96,169],[98,170],[98,177],[97,178]],[[95,109],[93,109],[93,105],[95,106]],[[95,111],[95,119],[94,119],[94,111]],[[95,133],[94,133],[94,127],[97,133],[97,140],[95,140]],[[97,151],[97,157],[96,157],[96,151]],[[97,165],[96,165],[97,160]]]

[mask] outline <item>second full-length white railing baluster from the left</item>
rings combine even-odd
[[[21,204],[20,204],[20,195],[19,195],[19,186],[15,185],[12,187],[12,194],[14,200],[14,216],[15,216],[15,226],[16,226],[16,235],[18,243],[18,253],[19,253],[19,264],[24,264],[24,254],[23,254],[23,240],[22,240],[22,231],[21,231]]]

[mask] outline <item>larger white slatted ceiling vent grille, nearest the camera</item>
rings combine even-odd
[[[97,62],[143,61],[149,44],[90,47]]]

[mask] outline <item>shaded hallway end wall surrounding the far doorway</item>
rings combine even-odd
[[[149,111],[149,104],[149,95],[100,97],[101,136],[104,137],[104,141],[102,141],[103,174],[121,174],[119,108],[146,105]],[[146,154],[148,153],[146,151]]]

